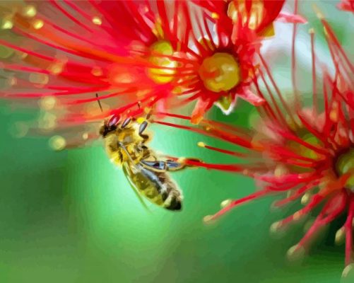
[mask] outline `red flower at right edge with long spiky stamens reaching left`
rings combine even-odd
[[[326,31],[329,50],[334,62],[334,76],[317,62],[314,53],[314,33],[312,42],[313,97],[311,105],[304,101],[305,94],[297,88],[291,103],[283,97],[269,71],[263,57],[260,56],[259,80],[255,81],[258,95],[265,103],[259,109],[261,122],[254,130],[242,129],[220,122],[203,120],[200,127],[175,125],[156,121],[159,124],[189,129],[247,149],[246,153],[230,149],[218,149],[199,143],[206,149],[223,154],[237,156],[248,161],[237,164],[213,164],[186,161],[194,166],[242,173],[254,178],[261,190],[241,200],[232,200],[213,216],[211,221],[244,202],[266,195],[288,192],[276,207],[302,200],[305,207],[291,216],[273,224],[272,229],[283,229],[292,221],[302,219],[315,207],[321,206],[317,219],[301,241],[290,248],[289,255],[308,248],[309,240],[319,229],[346,213],[346,221],[338,230],[336,239],[346,238],[346,272],[353,262],[353,219],[354,219],[354,66],[334,35],[329,24],[321,18]],[[295,33],[294,33],[295,38]],[[295,42],[295,41],[294,41]],[[295,48],[293,48],[295,50]],[[293,71],[295,74],[295,55]],[[323,73],[321,86],[316,84],[316,68]],[[268,75],[266,80],[265,75]],[[295,79],[295,75],[293,75]],[[294,85],[296,81],[294,81]],[[266,91],[262,91],[261,83]],[[319,92],[321,91],[321,96]],[[188,119],[181,115],[170,115]],[[290,193],[290,194],[289,194]]]

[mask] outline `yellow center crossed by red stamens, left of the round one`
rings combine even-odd
[[[169,83],[172,81],[173,75],[176,74],[177,62],[163,55],[173,55],[171,43],[166,40],[158,40],[151,45],[150,50],[153,54],[151,54],[149,62],[155,65],[155,68],[148,68],[148,76],[155,83]]]

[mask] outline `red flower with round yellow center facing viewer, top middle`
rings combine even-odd
[[[185,76],[172,81],[182,89],[179,96],[191,93],[189,100],[197,100],[191,122],[198,123],[213,104],[228,114],[237,97],[260,105],[263,100],[249,91],[256,76],[254,55],[261,40],[273,35],[273,21],[283,1],[194,2],[206,10],[194,18],[189,62],[180,71]],[[215,23],[214,35],[209,21]]]

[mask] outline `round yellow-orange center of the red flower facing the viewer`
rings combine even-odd
[[[215,53],[203,60],[199,76],[209,91],[230,91],[240,83],[240,65],[228,53]]]

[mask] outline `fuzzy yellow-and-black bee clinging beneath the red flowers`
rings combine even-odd
[[[184,168],[181,162],[159,158],[148,148],[150,140],[145,130],[148,121],[144,118],[118,116],[105,120],[100,135],[105,141],[105,149],[112,162],[122,166],[140,200],[141,196],[165,209],[182,209],[182,192],[170,178],[169,171]]]

